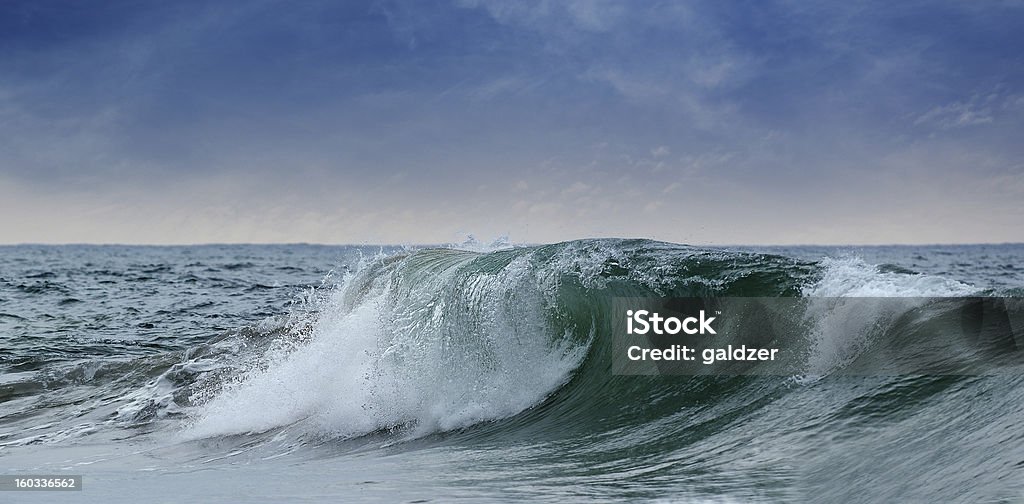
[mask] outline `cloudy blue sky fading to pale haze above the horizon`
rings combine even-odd
[[[1024,2],[0,3],[0,243],[1024,242]]]

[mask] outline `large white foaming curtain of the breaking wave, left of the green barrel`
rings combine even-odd
[[[308,344],[252,369],[195,413],[189,437],[286,425],[332,436],[413,435],[515,415],[543,401],[586,348],[552,340],[549,289],[529,256],[466,272],[477,254],[377,259],[319,310]]]

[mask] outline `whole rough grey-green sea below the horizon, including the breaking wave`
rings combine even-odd
[[[858,312],[795,335],[824,350],[794,376],[616,376],[607,320],[615,297],[1021,297],[1024,245],[475,249],[0,247],[0,473],[84,476],[0,497],[1024,498],[1019,361],[847,376],[835,351],[905,336]]]

